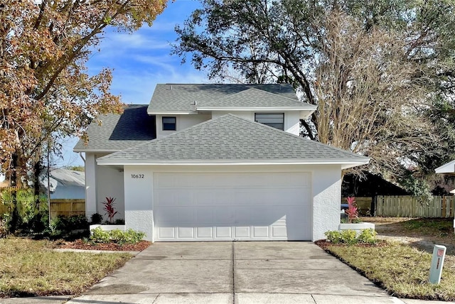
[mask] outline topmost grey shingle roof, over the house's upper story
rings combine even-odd
[[[291,85],[159,84],[147,113],[196,114],[203,107],[316,109],[314,105],[299,102]]]

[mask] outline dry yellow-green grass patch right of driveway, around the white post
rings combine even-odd
[[[398,243],[328,245],[326,249],[400,298],[455,300],[455,257],[446,256],[439,285],[428,283],[432,255]]]

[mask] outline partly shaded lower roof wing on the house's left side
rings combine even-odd
[[[113,152],[156,138],[155,117],[146,112],[146,104],[131,104],[123,114],[102,115],[87,129],[89,141],[77,142],[75,152]],[[98,124],[101,121],[101,126]]]

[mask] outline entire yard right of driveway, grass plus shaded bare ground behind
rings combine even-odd
[[[453,219],[365,217],[363,221],[375,223],[378,236],[397,241],[382,241],[376,246],[317,243],[363,273],[370,281],[378,283],[391,295],[425,300],[455,300]],[[398,242],[410,239],[411,244]],[[422,244],[447,246],[439,285],[428,283],[432,246]]]

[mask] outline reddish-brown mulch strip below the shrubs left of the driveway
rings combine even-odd
[[[109,251],[142,251],[151,245],[151,241],[139,241],[137,244],[119,245],[116,243],[91,244],[82,239],[75,241],[55,241],[55,248],[62,249],[85,249],[85,250],[109,250]]]

